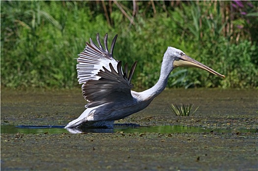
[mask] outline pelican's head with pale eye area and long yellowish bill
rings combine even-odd
[[[172,58],[173,68],[176,68],[179,66],[197,67],[197,68],[204,69],[214,75],[225,78],[224,75],[222,75],[222,74],[214,71],[213,69],[209,68],[208,66],[192,59],[191,57],[185,55],[185,53],[183,51],[181,51],[180,49],[177,49],[175,47],[168,47],[166,53],[164,54],[164,58],[165,58],[165,56],[169,57],[170,60]]]

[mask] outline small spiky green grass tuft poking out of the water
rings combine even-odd
[[[195,114],[195,112],[196,112],[196,110],[200,107],[197,107],[193,112],[192,112],[192,114],[190,114],[191,113],[191,110],[192,110],[192,108],[193,108],[193,104],[190,104],[190,105],[186,105],[186,106],[184,106],[184,105],[182,105],[181,104],[181,106],[177,106],[177,105],[173,105],[173,104],[171,104],[170,105],[170,109],[171,109],[171,111],[172,111],[172,113],[174,113],[176,116],[194,116],[194,114]]]

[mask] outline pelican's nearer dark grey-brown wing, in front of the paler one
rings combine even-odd
[[[101,77],[99,80],[90,80],[82,85],[82,94],[89,102],[87,107],[132,100],[130,91],[133,85],[123,74],[121,64],[122,62],[120,61],[117,65],[118,72],[115,71],[111,64],[111,71],[103,67],[104,71],[100,70],[97,74]]]

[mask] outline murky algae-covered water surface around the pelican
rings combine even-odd
[[[1,88],[0,169],[257,171],[257,100],[256,89],[169,89],[114,129],[70,130],[79,88]],[[171,103],[200,107],[180,117]]]

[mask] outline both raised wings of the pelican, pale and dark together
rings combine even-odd
[[[99,40],[99,47],[92,42],[86,43],[86,47],[77,59],[78,82],[82,85],[82,94],[89,102],[86,107],[96,107],[110,102],[121,102],[132,100],[130,84],[135,62],[128,76],[128,64],[125,65],[125,72],[122,71],[122,62],[117,62],[112,57],[117,35],[111,44],[111,53],[107,49],[107,34],[104,37],[104,46]]]

